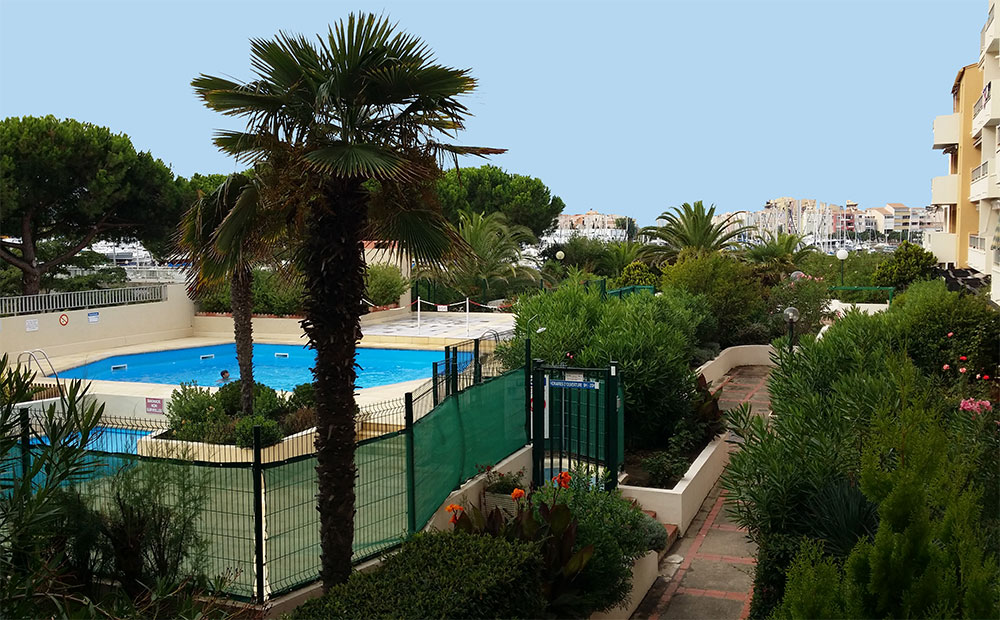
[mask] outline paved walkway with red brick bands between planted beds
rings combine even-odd
[[[766,366],[734,368],[720,384],[721,406],[748,402],[755,412],[770,413],[769,372]],[[633,618],[738,620],[749,615],[757,548],[729,519],[725,499],[716,483],[685,536],[661,560],[660,577]]]

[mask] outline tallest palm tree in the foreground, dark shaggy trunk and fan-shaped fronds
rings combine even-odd
[[[444,154],[503,151],[438,141],[463,128],[468,110],[459,98],[476,81],[437,64],[424,42],[384,18],[351,14],[316,43],[254,39],[251,65],[249,82],[201,75],[192,85],[209,108],[246,120],[244,131],[218,132],[215,144],[268,163],[275,182],[267,202],[302,233],[302,326],[316,350],[320,577],[329,589],[351,572],[362,242],[395,240],[418,260],[436,258],[450,242],[446,222],[410,188],[433,177]],[[370,181],[399,201],[371,205]]]

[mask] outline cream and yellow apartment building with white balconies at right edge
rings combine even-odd
[[[948,157],[948,174],[931,181],[931,204],[943,211],[943,230],[924,236],[938,261],[978,277],[992,276],[1000,302],[1000,22],[989,0],[979,35],[979,62],[962,67],[952,86],[952,113],[934,119],[933,148]]]

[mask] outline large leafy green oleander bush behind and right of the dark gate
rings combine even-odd
[[[619,362],[625,388],[625,441],[662,447],[678,420],[691,413],[690,371],[695,334],[705,316],[687,294],[602,299],[596,290],[566,285],[522,298],[515,338],[500,349],[509,367],[523,363],[527,321],[532,355],[550,363],[597,368]],[[571,354],[572,358],[567,357]]]

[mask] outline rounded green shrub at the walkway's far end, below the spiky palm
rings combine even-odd
[[[722,348],[770,341],[767,291],[751,266],[724,253],[692,256],[664,267],[663,288],[705,298],[715,325],[708,342]]]

